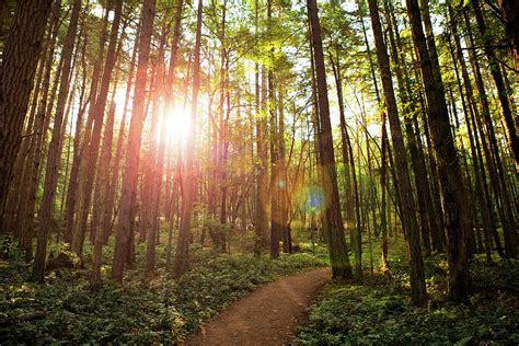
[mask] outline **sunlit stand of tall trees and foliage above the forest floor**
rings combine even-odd
[[[470,303],[473,258],[519,256],[517,12],[2,1],[0,252],[35,282],[77,256],[97,290],[180,279],[197,249],[324,245],[334,279],[391,281],[396,252],[416,305],[445,256],[446,297]]]

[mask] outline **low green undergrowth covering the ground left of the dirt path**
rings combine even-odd
[[[199,246],[192,251],[191,270],[180,280],[164,269],[147,280],[135,267],[124,287],[106,280],[92,290],[90,263],[48,273],[44,285],[31,284],[30,266],[13,250],[8,261],[0,260],[0,344],[175,343],[258,285],[325,265],[310,253],[273,261]],[[145,252],[137,246],[137,257]]]

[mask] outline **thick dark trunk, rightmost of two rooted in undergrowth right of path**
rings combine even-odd
[[[469,263],[466,238],[472,222],[469,200],[463,184],[461,168],[452,138],[443,82],[438,65],[434,65],[422,27],[422,15],[417,0],[406,0],[413,41],[418,50],[422,77],[425,84],[428,120],[438,159],[439,177],[443,195],[446,230],[448,240],[449,298],[454,302],[469,300]]]

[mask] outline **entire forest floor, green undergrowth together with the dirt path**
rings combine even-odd
[[[31,264],[12,244],[0,255],[0,345],[519,345],[518,260],[496,255],[488,263],[475,255],[471,303],[454,305],[447,300],[446,256],[426,257],[428,303],[415,307],[402,239],[390,243],[391,277],[380,246],[367,244],[362,279],[346,285],[326,284],[325,246],[312,252],[304,242],[300,253],[278,260],[193,245],[191,269],[174,279],[165,270],[164,243],[152,279],[143,275],[146,243],[138,243],[136,265],[120,286],[107,279],[111,239],[96,290],[89,285],[90,245],[82,267],[48,270],[41,285],[27,280]],[[49,251],[68,253],[64,244]]]

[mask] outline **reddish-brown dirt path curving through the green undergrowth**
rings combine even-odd
[[[320,268],[284,277],[237,300],[192,335],[186,345],[286,345],[307,308],[332,276]]]

